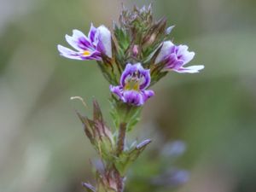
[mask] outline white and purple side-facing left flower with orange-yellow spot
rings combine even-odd
[[[74,49],[68,49],[62,45],[58,45],[58,49],[62,56],[74,60],[102,60],[102,53],[112,57],[111,48],[111,32],[106,26],[94,27],[90,26],[88,37],[83,32],[74,29],[73,36],[66,35],[67,43]]]

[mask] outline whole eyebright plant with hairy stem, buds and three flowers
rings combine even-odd
[[[90,26],[88,35],[73,30],[66,35],[73,49],[58,45],[60,54],[74,60],[95,60],[109,83],[113,127],[108,126],[98,102],[93,118],[78,113],[84,132],[100,156],[96,185],[83,183],[88,192],[122,192],[131,163],[151,140],[128,145],[126,133],[137,124],[143,105],[154,96],[150,87],[169,72],[198,73],[204,66],[185,67],[195,53],[187,45],[173,44],[173,26],[166,19],[153,20],[151,5],[132,10],[123,8],[113,32],[106,26]]]

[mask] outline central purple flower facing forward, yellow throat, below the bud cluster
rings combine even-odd
[[[120,85],[110,85],[111,92],[123,102],[141,106],[154,96],[153,90],[146,90],[150,84],[149,69],[144,69],[141,63],[128,63],[120,78]]]

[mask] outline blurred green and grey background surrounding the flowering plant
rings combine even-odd
[[[121,3],[0,0],[1,192],[80,192],[81,181],[93,183],[89,160],[96,153],[74,109],[90,111],[69,98],[90,103],[94,96],[109,121],[108,83],[96,62],[62,58],[56,45],[67,45],[73,28],[88,32],[91,21],[111,27]],[[125,191],[255,192],[256,1],[153,5],[156,19],[176,26],[174,42],[196,52],[191,64],[206,68],[170,73],[154,85],[157,94],[130,135],[154,143],[134,164]]]

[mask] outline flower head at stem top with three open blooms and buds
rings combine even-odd
[[[123,10],[120,26],[114,27],[113,34],[106,26],[96,28],[91,24],[87,37],[79,30],[73,30],[72,37],[66,35],[67,43],[76,50],[62,45],[58,45],[58,49],[62,56],[70,59],[98,61],[102,73],[111,83],[113,95],[121,102],[142,106],[154,96],[153,90],[146,90],[151,85],[154,68],[160,68],[154,74],[157,80],[163,76],[162,73],[169,71],[198,73],[204,68],[201,65],[184,67],[195,53],[189,52],[187,45],[175,45],[166,39],[173,26],[165,28],[166,20],[154,23],[151,15],[150,7],[133,12]],[[143,41],[139,42],[138,37]],[[116,43],[113,43],[113,38]],[[150,61],[149,66],[147,61]],[[118,68],[119,73],[114,73],[114,68]]]

